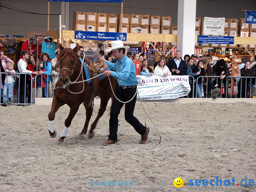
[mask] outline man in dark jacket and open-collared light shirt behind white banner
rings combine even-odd
[[[175,52],[175,58],[171,59],[166,65],[172,75],[187,75],[187,64],[181,59],[181,51]]]

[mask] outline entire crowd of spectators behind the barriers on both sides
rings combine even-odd
[[[83,47],[79,47],[78,53],[83,52]],[[26,74],[32,74],[32,77],[37,77],[36,83],[33,82],[33,86],[37,87],[36,97],[50,97],[49,87],[52,84],[53,88],[59,77],[59,68],[55,69],[57,57],[59,51],[55,52],[55,58],[50,59],[49,54],[42,53],[41,58],[36,60],[35,55],[30,54],[27,50],[21,51],[21,58],[17,64],[17,73],[24,73],[20,75],[12,74],[12,67],[14,62],[4,55],[4,52],[0,50],[0,67],[1,73],[6,73],[1,75],[1,103],[11,104],[13,102],[12,95],[13,93],[8,90],[14,90],[15,87],[9,88],[7,83],[12,83],[19,86],[18,90],[18,103],[26,104],[26,98],[28,97],[27,103],[31,103],[31,94],[32,98],[34,97],[34,88],[31,90],[31,76]],[[105,54],[103,50],[100,52],[103,59],[115,63],[116,58],[113,56],[111,51],[108,54]],[[181,51],[177,50],[175,57],[167,57],[161,55],[160,59],[154,63],[154,66],[149,66],[146,53],[135,53],[132,55],[131,52],[127,52],[127,57],[133,60],[136,75],[158,75],[158,76],[169,76],[169,75],[189,75],[189,84],[191,86],[191,91],[188,94],[188,97],[198,97],[201,98],[204,96],[203,93],[203,83],[207,82],[207,97],[217,98],[220,96],[221,90],[224,86],[224,93],[227,91],[227,77],[230,75],[228,65],[223,59],[217,61],[212,67],[212,73],[210,78],[198,78],[200,76],[206,76],[204,70],[203,55],[185,55],[183,59],[181,58]],[[255,56],[256,60],[256,56]],[[7,64],[8,63],[8,64]],[[238,94],[237,98],[247,97],[247,93],[250,89],[250,95],[255,95],[255,78],[252,80],[250,78],[240,78],[240,77],[256,77],[256,64],[251,63],[247,57],[242,58],[242,63],[238,65],[238,76],[236,78],[236,84],[238,85]],[[47,75],[52,74],[52,75]],[[11,76],[10,76],[11,75]],[[192,77],[193,78],[192,78]],[[216,77],[217,76],[217,77]],[[16,81],[15,81],[15,77]],[[196,82],[198,78],[198,82]],[[13,79],[13,80],[12,80]],[[17,79],[19,79],[17,81]],[[6,81],[7,80],[7,81]],[[18,82],[18,83],[17,83]],[[5,85],[6,84],[6,85]],[[5,86],[4,86],[5,85]],[[196,86],[197,85],[197,86]],[[194,88],[194,95],[192,94]],[[195,95],[197,92],[197,95]],[[226,94],[223,94],[222,97],[225,97]]]

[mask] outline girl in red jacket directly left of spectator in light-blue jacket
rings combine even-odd
[[[37,60],[37,62],[36,62],[36,65],[35,65],[35,67],[34,67],[34,69],[33,69],[33,71],[46,71],[45,69],[44,69],[44,63],[43,63],[43,60],[41,60],[41,59],[38,59]],[[35,75],[33,75],[33,77],[34,77]],[[42,79],[42,77],[43,77],[43,79]],[[46,79],[47,78],[47,76],[46,75],[38,75],[37,76],[37,78],[36,78],[36,88],[37,88],[37,91],[36,91],[36,97],[42,97],[42,87],[45,87],[46,85],[45,85],[45,83],[44,83],[44,79]],[[33,81],[33,85],[32,85],[32,87],[33,87],[33,90],[32,90],[32,98],[34,97],[34,94],[35,94],[35,89],[34,89],[34,87],[35,87],[35,82]]]

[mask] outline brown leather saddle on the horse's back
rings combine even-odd
[[[84,52],[84,55],[89,58],[90,64],[88,65],[88,68],[96,73],[102,73],[107,69],[106,62],[102,59],[101,55],[95,51],[87,50]]]

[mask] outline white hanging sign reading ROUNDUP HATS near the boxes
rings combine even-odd
[[[203,35],[223,35],[225,17],[204,17]]]

